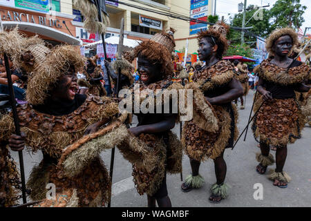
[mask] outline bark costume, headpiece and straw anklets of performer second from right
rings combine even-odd
[[[225,51],[228,46],[226,33],[225,24],[217,23],[210,26],[209,30],[200,32],[198,41],[200,43],[205,37],[213,37],[214,44],[215,39],[218,39]],[[232,79],[234,79],[234,66],[229,61],[220,60],[210,67],[203,66],[196,71],[194,82],[186,86],[187,89],[194,90],[194,118],[185,122],[182,129],[182,144],[190,160],[195,160],[198,164],[209,159],[215,160],[225,148],[233,146],[238,136],[236,106],[233,106],[232,102],[211,105],[205,99],[205,96],[217,97],[227,93],[229,90],[227,86]],[[204,179],[200,174],[189,175],[182,184],[186,189],[182,187],[182,191],[200,188],[203,183]],[[211,194],[221,199],[226,198],[227,184],[214,184],[211,186]]]

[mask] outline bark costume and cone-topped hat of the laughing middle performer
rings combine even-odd
[[[138,126],[146,126],[162,122],[165,117],[173,117],[170,112],[168,114],[156,113],[156,104],[160,102],[160,106],[171,103],[171,99],[163,99],[164,96],[156,95],[156,90],[161,90],[163,94],[169,93],[171,89],[182,89],[182,85],[171,81],[173,76],[173,63],[171,60],[171,52],[175,44],[173,41],[173,30],[162,32],[154,35],[149,41],[143,41],[139,46],[131,51],[131,55],[127,56],[131,62],[135,57],[146,57],[148,61],[152,61],[152,65],[159,64],[160,73],[162,75],[160,81],[144,84],[143,81],[138,82],[135,86],[130,87],[130,103],[135,106],[134,97],[137,97],[139,106],[151,105],[155,112],[135,113],[138,115]],[[138,64],[140,70],[140,64]],[[136,89],[135,89],[136,88]],[[153,95],[146,92],[146,89],[152,91]],[[165,90],[164,90],[165,89]],[[136,91],[140,93],[137,94]],[[153,108],[152,107],[152,108]],[[133,139],[135,137],[133,136]],[[128,144],[120,145],[119,149],[126,160],[133,164],[133,177],[135,187],[140,195],[147,193],[149,197],[163,198],[167,196],[166,173],[180,173],[182,169],[182,145],[178,137],[171,131],[163,131],[161,133],[141,133],[136,140],[137,144],[129,148]],[[159,205],[160,206],[160,205]]]

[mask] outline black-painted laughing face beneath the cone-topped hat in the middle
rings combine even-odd
[[[144,84],[151,84],[161,79],[160,64],[153,64],[144,56],[138,57],[138,73]]]

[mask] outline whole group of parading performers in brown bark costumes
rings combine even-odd
[[[32,169],[26,184],[32,206],[106,206],[111,200],[111,177],[100,153],[117,148],[133,166],[133,182],[149,207],[172,206],[167,175],[182,171],[182,156],[189,157],[191,174],[180,191],[202,187],[202,162],[214,162],[216,183],[209,201],[228,197],[225,182],[225,150],[238,139],[238,100],[254,90],[252,132],[260,151],[256,171],[263,175],[275,163],[269,178],[276,188],[291,180],[283,170],[288,144],[301,138],[311,114],[310,68],[295,59],[298,45],[292,28],[274,30],[267,39],[269,58],[252,69],[237,60],[224,60],[229,43],[225,23],[216,23],[198,34],[199,61],[182,66],[173,53],[174,32],[163,31],[122,59],[83,57],[74,46],[47,46],[39,37],[26,37],[15,28],[0,34],[0,52],[8,55],[9,67],[0,61],[0,206],[17,204],[21,193],[19,173],[10,151],[27,148],[41,151],[43,160]],[[137,70],[133,61],[137,59]],[[7,68],[7,69],[6,69]],[[21,134],[15,133],[8,97],[6,70],[12,73]],[[118,77],[119,76],[119,77]],[[309,84],[309,85],[308,85]],[[182,113],[121,112],[122,88],[193,91],[193,117],[183,122],[181,139],[172,128]],[[140,105],[154,102],[172,106],[172,97],[143,97]],[[133,101],[134,102],[134,101]],[[133,107],[135,105],[133,104]],[[131,126],[132,113],[138,125]],[[276,158],[270,149],[276,151]],[[56,186],[57,200],[46,198],[46,184]],[[66,198],[64,197],[66,195]],[[178,205],[173,205],[178,206]],[[191,206],[191,205],[189,205]]]

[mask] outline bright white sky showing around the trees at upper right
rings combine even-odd
[[[225,19],[229,20],[228,13],[236,14],[238,13],[238,3],[243,2],[244,0],[216,0],[216,14],[221,16],[225,16]],[[276,0],[247,0],[247,6],[249,5],[256,5],[256,6],[267,6],[270,4],[270,8],[274,5]],[[310,0],[301,0],[301,4],[303,6],[307,6],[307,10],[305,10],[305,14],[303,17],[305,18],[305,23],[301,29],[305,30],[305,27],[311,27],[311,1]],[[307,33],[311,34],[311,29],[308,30]]]

